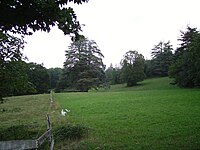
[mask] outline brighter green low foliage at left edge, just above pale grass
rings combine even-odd
[[[8,61],[0,68],[0,97],[22,95],[30,90],[23,61]]]

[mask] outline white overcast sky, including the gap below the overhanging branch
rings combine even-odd
[[[90,0],[73,6],[86,37],[95,40],[104,64],[119,64],[129,50],[145,58],[159,41],[170,40],[174,48],[180,30],[187,25],[200,29],[199,0]],[[63,67],[70,44],[56,27],[50,33],[35,32],[26,38],[24,53],[30,62],[45,67]]]

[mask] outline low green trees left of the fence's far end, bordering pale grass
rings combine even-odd
[[[47,93],[49,74],[42,65],[7,61],[0,68],[0,97]]]

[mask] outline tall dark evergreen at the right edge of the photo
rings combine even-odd
[[[170,76],[181,87],[200,86],[200,32],[196,28],[187,28],[181,32],[182,43],[175,51]]]

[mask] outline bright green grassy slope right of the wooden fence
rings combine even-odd
[[[96,142],[103,149],[200,148],[200,92],[169,85],[168,78],[55,97],[71,110],[69,122],[91,128],[88,147]]]

